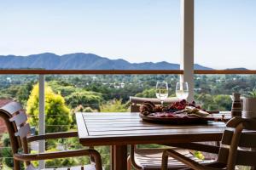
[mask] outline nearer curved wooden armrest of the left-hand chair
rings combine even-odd
[[[56,159],[56,158],[74,157],[74,156],[92,156],[96,163],[96,170],[102,170],[101,155],[96,150],[67,150],[67,151],[57,151],[57,152],[38,153],[38,154],[16,153],[14,155],[14,158],[15,160],[18,160],[18,161],[38,161],[38,160],[47,160],[47,159]]]

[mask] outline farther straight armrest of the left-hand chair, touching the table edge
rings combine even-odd
[[[78,132],[65,132],[65,133],[46,133],[42,135],[34,135],[27,137],[27,142],[44,140],[44,139],[61,139],[78,137]]]

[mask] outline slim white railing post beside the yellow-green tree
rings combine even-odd
[[[45,133],[45,116],[44,116],[44,75],[39,75],[39,134]],[[45,141],[39,141],[39,153],[44,152]],[[39,169],[44,169],[44,161],[39,161]]]

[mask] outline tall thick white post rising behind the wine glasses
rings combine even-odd
[[[188,101],[194,100],[194,0],[181,0],[181,82],[188,82]]]

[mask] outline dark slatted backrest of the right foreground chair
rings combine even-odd
[[[227,169],[236,165],[256,166],[256,119],[236,117],[227,122],[221,141],[218,162]]]

